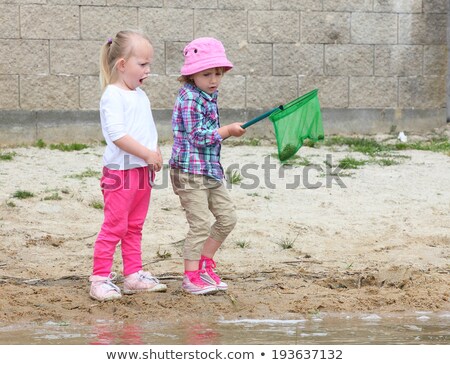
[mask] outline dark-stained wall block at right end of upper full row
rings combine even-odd
[[[399,14],[400,44],[447,44],[446,14]]]

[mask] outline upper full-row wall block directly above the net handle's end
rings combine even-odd
[[[294,11],[248,12],[248,39],[254,43],[298,42],[300,15]]]

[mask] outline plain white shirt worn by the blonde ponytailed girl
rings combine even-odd
[[[124,90],[108,85],[100,99],[100,121],[107,144],[103,154],[104,166],[112,170],[147,166],[143,159],[121,150],[113,143],[128,134],[148,149],[157,151],[158,132],[150,100],[142,89]]]

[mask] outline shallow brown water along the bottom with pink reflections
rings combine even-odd
[[[0,344],[296,345],[450,344],[450,313],[319,314],[296,320],[205,323],[114,322],[93,325],[0,323]]]

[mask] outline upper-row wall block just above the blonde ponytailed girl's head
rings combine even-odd
[[[82,6],[81,38],[106,42],[118,31],[138,27],[138,10],[129,7]]]

